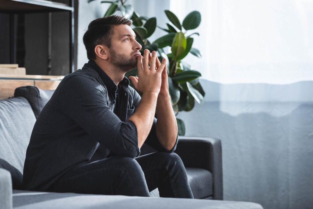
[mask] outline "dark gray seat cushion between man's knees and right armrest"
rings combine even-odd
[[[213,195],[212,174],[202,168],[186,168],[188,182],[195,199],[203,199]],[[156,188],[150,192],[150,196],[159,197]]]

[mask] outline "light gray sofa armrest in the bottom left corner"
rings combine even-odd
[[[0,206],[3,209],[12,209],[12,180],[9,171],[0,168]]]

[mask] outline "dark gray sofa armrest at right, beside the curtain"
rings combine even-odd
[[[222,144],[220,139],[179,136],[175,153],[185,167],[203,168],[212,173],[213,199],[223,200]]]

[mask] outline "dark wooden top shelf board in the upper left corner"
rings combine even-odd
[[[66,4],[46,0],[1,0],[0,13],[73,12]]]

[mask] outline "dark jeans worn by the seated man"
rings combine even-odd
[[[186,169],[176,153],[154,152],[136,158],[113,156],[67,171],[54,192],[193,198]]]

